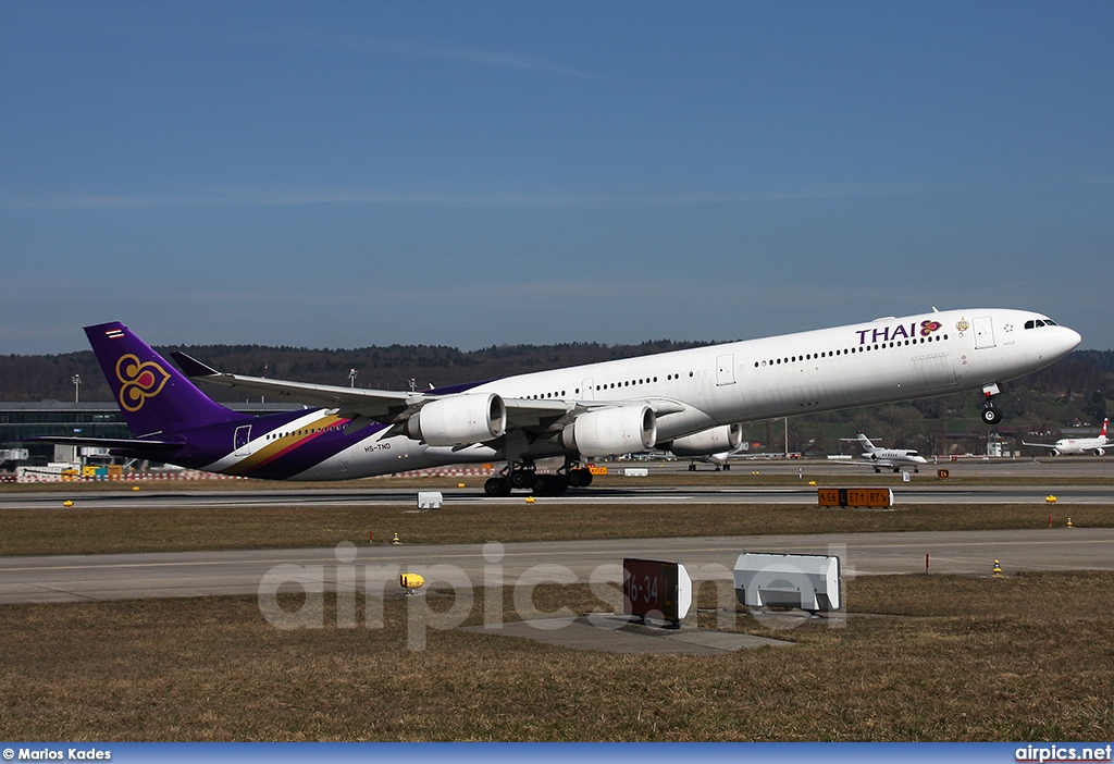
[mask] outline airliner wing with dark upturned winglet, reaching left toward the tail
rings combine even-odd
[[[411,407],[420,405],[428,398],[422,393],[395,390],[363,390],[361,388],[284,382],[262,376],[229,374],[207,366],[185,353],[175,352],[170,353],[170,356],[186,376],[203,382],[233,390],[246,390],[253,393],[285,398],[325,409],[340,409],[346,415],[359,415],[377,421],[391,421],[405,413]]]

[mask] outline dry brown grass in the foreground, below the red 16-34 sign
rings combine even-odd
[[[403,599],[387,603],[382,629],[330,626],[329,603],[324,628],[281,630],[252,597],[9,606],[0,737],[1108,741],[1112,585],[1100,572],[860,578],[850,609],[873,617],[766,631],[740,615],[736,628],[795,645],[721,656],[459,630],[411,652]],[[599,607],[585,586],[536,603]]]

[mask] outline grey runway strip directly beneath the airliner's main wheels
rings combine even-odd
[[[1055,496],[1061,503],[1114,506],[1114,457],[1032,460],[979,458],[957,462],[941,461],[929,464],[919,474],[903,482],[893,473],[874,474],[869,464],[833,463],[822,460],[745,460],[732,462],[730,472],[715,472],[707,464],[700,464],[696,473],[688,472],[686,461],[622,462],[608,464],[607,482],[597,482],[590,489],[570,491],[563,497],[539,498],[538,501],[561,503],[756,503],[800,505],[813,503],[817,487],[825,486],[825,478],[862,477],[864,486],[892,488],[895,503],[1043,503]],[[685,482],[695,478],[695,486],[649,486],[645,478],[626,477],[628,468],[645,469],[649,477],[685,476]],[[937,469],[947,469],[950,478],[940,480]],[[797,484],[762,484],[764,477],[797,478]],[[739,484],[740,479],[754,486]],[[956,479],[988,479],[996,484],[957,484]],[[194,488],[190,483],[145,482],[138,491],[130,483],[106,484],[99,490],[79,486],[68,488],[62,483],[48,490],[30,491],[20,487],[0,490],[0,511],[4,509],[57,509],[61,502],[74,500],[81,507],[265,507],[273,505],[340,506],[353,503],[414,506],[418,490],[439,490],[446,502],[482,502],[489,506],[519,503],[526,493],[492,498],[483,494],[483,477],[443,478],[443,487],[400,488],[390,478],[353,483],[260,483],[251,488]],[[1001,481],[1006,481],[1003,483]],[[809,486],[815,481],[817,486]],[[1072,481],[1079,481],[1074,483]],[[1108,481],[1108,482],[1105,482]],[[463,482],[466,488],[456,488]],[[658,481],[655,481],[658,482]],[[1101,484],[1081,484],[1081,483]],[[395,483],[392,486],[392,483]],[[846,484],[841,481],[841,484]]]

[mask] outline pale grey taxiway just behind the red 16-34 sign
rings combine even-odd
[[[743,551],[839,555],[844,576],[924,572],[926,555],[938,574],[985,576],[996,559],[1006,574],[1114,570],[1114,528],[8,557],[0,559],[0,604],[254,595],[267,576],[291,584],[320,576],[331,589],[338,571],[372,595],[398,592],[400,572],[448,587],[483,586],[496,574],[506,586],[568,584],[569,576],[618,581],[624,557],[677,560],[695,580],[723,580]]]

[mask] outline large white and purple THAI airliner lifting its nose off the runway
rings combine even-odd
[[[746,421],[981,390],[1063,357],[1079,335],[1029,311],[935,311],[657,355],[404,392],[216,371],[174,353],[177,371],[120,323],[85,330],[134,440],[41,438],[125,457],[276,480],[344,480],[447,464],[506,462],[485,491],[585,487],[584,461],[739,447]],[[188,378],[319,408],[248,417]],[[553,474],[538,459],[564,457]]]

